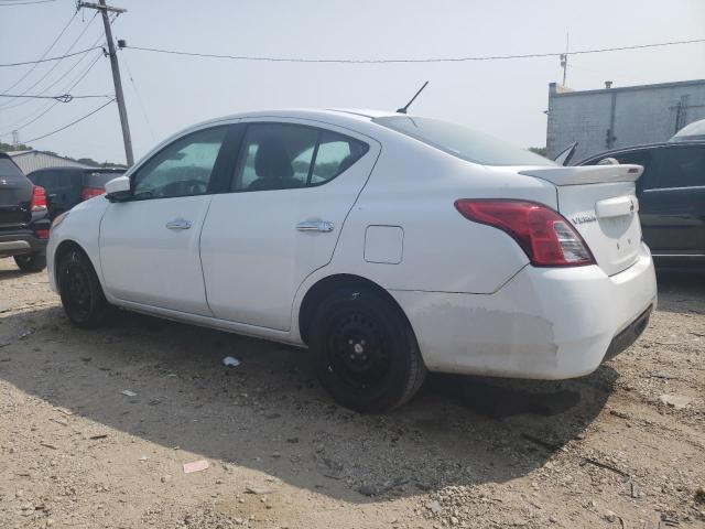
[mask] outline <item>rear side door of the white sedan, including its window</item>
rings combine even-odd
[[[296,290],[330,261],[380,147],[335,127],[243,121],[230,187],[214,196],[200,239],[208,305],[223,320],[289,331]]]

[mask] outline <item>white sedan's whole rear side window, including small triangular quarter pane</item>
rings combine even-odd
[[[270,191],[324,184],[369,147],[327,130],[289,123],[248,126],[231,191]]]

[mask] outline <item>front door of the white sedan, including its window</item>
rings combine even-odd
[[[131,174],[131,198],[100,223],[105,284],[119,300],[210,315],[198,253],[229,126],[171,142]]]

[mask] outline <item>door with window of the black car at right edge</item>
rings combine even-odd
[[[673,144],[654,154],[640,182],[644,240],[654,256],[705,255],[705,145]]]

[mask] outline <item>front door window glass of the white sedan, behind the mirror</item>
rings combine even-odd
[[[227,131],[227,127],[199,130],[154,154],[134,175],[134,198],[206,194]]]

